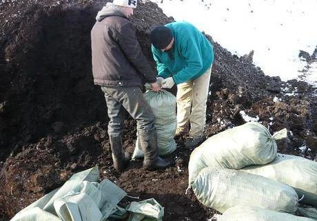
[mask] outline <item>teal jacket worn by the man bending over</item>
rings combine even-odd
[[[176,84],[194,80],[207,71],[214,61],[214,49],[194,25],[173,22],[165,25],[172,30],[174,44],[170,52],[162,52],[152,45],[158,75],[172,76]]]

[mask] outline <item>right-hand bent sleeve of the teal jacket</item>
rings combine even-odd
[[[173,79],[176,84],[184,83],[203,68],[203,58],[201,55],[201,50],[199,50],[200,45],[195,39],[183,39],[181,43],[181,54],[187,61],[187,65],[173,75]]]

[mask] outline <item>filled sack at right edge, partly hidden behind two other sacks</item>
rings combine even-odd
[[[317,162],[300,156],[278,154],[267,165],[252,165],[241,169],[247,173],[283,182],[293,187],[300,202],[317,207]]]

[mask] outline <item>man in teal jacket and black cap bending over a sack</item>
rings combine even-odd
[[[173,22],[154,28],[151,42],[162,87],[177,85],[176,136],[189,131],[185,148],[195,148],[203,141],[214,61],[212,44],[202,32],[187,22]]]

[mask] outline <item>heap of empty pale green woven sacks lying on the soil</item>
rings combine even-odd
[[[126,218],[127,211],[118,203],[127,193],[110,180],[96,182],[98,177],[98,167],[74,174],[61,188],[25,207],[11,221],[105,221],[108,218]],[[144,217],[151,212],[156,214],[158,207],[158,203],[155,208],[147,207]],[[138,215],[142,212],[138,211]],[[141,220],[134,218],[134,221]]]

